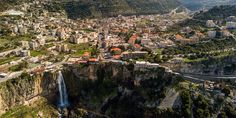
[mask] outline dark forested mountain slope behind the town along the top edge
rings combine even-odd
[[[25,1],[0,0],[0,11]],[[43,1],[43,0],[41,0]],[[44,0],[46,1],[46,0]],[[65,10],[69,18],[97,18],[131,14],[166,13],[180,5],[177,0],[47,0],[45,8]]]

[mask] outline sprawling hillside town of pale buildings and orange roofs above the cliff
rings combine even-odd
[[[135,70],[164,67],[171,73],[181,75],[172,69],[173,65],[204,59],[190,59],[200,54],[209,56],[217,53],[219,56],[219,53],[235,51],[235,48],[228,47],[199,54],[171,52],[168,49],[209,42],[209,38],[226,40],[230,37],[236,40],[236,16],[227,17],[224,23],[208,19],[202,29],[186,26],[172,31],[175,24],[192,19],[192,15],[185,10],[173,10],[162,15],[72,20],[67,18],[65,12],[49,12],[43,5],[40,1],[34,1],[0,13],[0,37],[5,39],[0,42],[0,82],[16,78],[24,72],[34,75],[56,70],[63,65],[100,62],[134,62]],[[230,90],[227,94],[221,91],[230,85],[185,77],[194,81],[193,84],[187,83],[187,88],[195,94],[204,91],[204,94],[211,96],[210,93],[214,92],[216,94],[212,100],[228,96],[226,101],[236,107],[236,91]],[[203,90],[195,90],[194,86],[200,86]],[[159,108],[174,107],[174,101],[179,99],[179,93],[174,93],[170,90],[169,96],[173,95],[174,99],[167,96]]]

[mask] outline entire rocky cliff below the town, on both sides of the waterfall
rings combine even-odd
[[[131,63],[65,65],[62,73],[70,102],[66,113],[68,118],[154,117],[158,114],[157,106],[169,87],[180,79],[161,67],[135,70]],[[23,74],[19,78],[1,83],[0,112],[12,111],[18,105],[31,106],[40,97],[46,98],[50,106],[54,106],[49,106],[54,110],[46,111],[48,114],[54,112],[55,116],[59,98],[56,72],[35,76]],[[18,109],[15,110],[14,115],[18,113]],[[41,112],[36,111],[39,117]],[[31,113],[30,110],[28,112]]]

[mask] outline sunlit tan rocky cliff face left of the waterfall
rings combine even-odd
[[[39,97],[52,100],[57,92],[56,75],[44,73],[30,76],[23,74],[19,78],[0,84],[0,113],[17,105],[29,105]]]

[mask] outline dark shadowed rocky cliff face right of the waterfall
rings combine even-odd
[[[67,66],[63,74],[71,114],[83,108],[117,118],[155,116],[168,87],[179,81],[161,67],[135,70],[133,64],[120,63]]]

